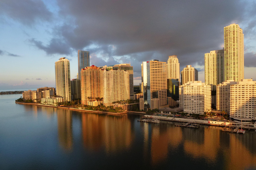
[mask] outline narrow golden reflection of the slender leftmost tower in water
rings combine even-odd
[[[59,143],[66,151],[72,150],[72,113],[70,110],[57,109]]]

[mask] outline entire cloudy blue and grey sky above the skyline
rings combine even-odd
[[[255,9],[254,0],[1,0],[0,90],[55,87],[60,57],[76,78],[78,50],[98,67],[131,63],[134,85],[143,61],[170,55],[204,82],[204,54],[224,47],[233,23],[243,29],[244,78],[256,81]]]

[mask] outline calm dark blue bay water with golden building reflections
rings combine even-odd
[[[0,169],[256,169],[256,134],[139,123],[0,96]]]

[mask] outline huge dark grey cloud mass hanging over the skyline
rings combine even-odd
[[[180,70],[204,65],[204,53],[222,49],[229,24],[243,23],[248,35],[255,30],[254,1],[58,0],[58,6],[65,24],[48,45],[32,39],[34,45],[47,54],[88,50],[96,66],[130,62],[134,77],[142,61],[169,55],[178,55]]]

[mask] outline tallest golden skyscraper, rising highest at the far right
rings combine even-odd
[[[244,79],[244,34],[238,24],[224,27],[225,81]]]

